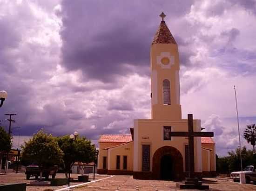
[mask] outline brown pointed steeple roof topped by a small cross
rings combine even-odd
[[[162,21],[155,33],[155,37],[152,42],[152,45],[153,44],[176,44],[175,39],[172,36],[172,33],[168,29],[168,26],[165,24],[165,21],[163,20],[166,15],[162,12],[159,16],[162,18]]]

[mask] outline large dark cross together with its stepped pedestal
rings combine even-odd
[[[188,114],[188,126],[188,132],[171,132],[172,137],[189,138],[189,177],[185,178],[185,181],[182,181],[182,184],[177,184],[177,186],[181,189],[209,190],[209,185],[202,185],[202,181],[195,177],[194,137],[213,137],[213,132],[194,132],[192,114]]]

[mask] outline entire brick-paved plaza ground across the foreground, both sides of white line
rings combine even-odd
[[[72,177],[77,177],[79,174],[72,174]],[[96,175],[96,179],[106,178],[106,175]],[[64,174],[58,173],[57,178],[64,178]],[[89,176],[92,181],[92,174]],[[31,182],[33,178],[26,180],[24,173],[8,173],[7,175],[0,175],[0,183],[11,182]],[[133,179],[132,176],[113,176],[102,179],[98,182],[92,182],[79,188],[73,188],[73,191],[177,191],[177,182],[163,181],[163,180],[138,180]],[[256,185],[247,184],[241,185],[233,182],[229,178],[204,178],[204,184],[210,186],[210,191],[256,191]],[[72,182],[71,185],[81,183]],[[27,191],[44,191],[46,189],[57,190],[67,187],[64,186],[27,186]],[[191,190],[190,190],[191,191]]]

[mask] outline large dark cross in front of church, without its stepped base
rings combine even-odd
[[[194,178],[195,172],[195,155],[194,155],[194,137],[213,137],[213,132],[194,132],[193,114],[188,114],[189,131],[171,132],[172,137],[188,137],[189,138],[189,178]]]

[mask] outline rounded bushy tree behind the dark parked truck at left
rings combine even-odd
[[[34,134],[33,138],[25,141],[22,148],[22,159],[30,163],[36,163],[40,167],[40,179],[42,170],[62,162],[63,152],[52,134],[46,134],[43,130]]]

